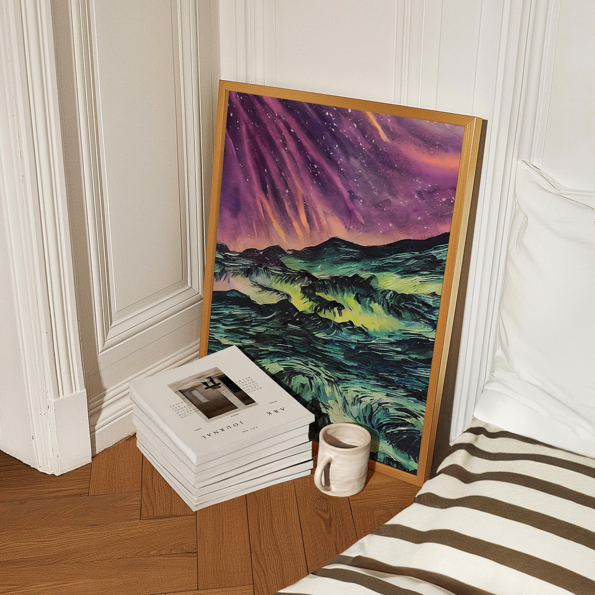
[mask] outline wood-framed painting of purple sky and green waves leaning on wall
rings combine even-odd
[[[222,81],[200,355],[237,345],[427,478],[481,119]]]

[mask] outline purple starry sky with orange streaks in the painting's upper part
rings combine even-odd
[[[218,242],[360,245],[450,230],[463,127],[230,92]]]

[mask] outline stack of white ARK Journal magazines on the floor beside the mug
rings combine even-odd
[[[130,383],[136,443],[193,511],[308,475],[312,415],[237,347]]]

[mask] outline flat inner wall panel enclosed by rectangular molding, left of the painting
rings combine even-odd
[[[161,0],[92,4],[114,320],[185,281],[177,22],[171,9]]]

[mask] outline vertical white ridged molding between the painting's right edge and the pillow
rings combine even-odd
[[[557,2],[558,0],[554,0]],[[516,162],[531,159],[543,70],[549,2],[505,2],[500,29],[497,96],[492,138],[486,146],[484,208],[475,222],[461,355],[455,388],[451,439],[472,418],[477,397],[491,372],[497,341],[498,304],[502,290]]]

